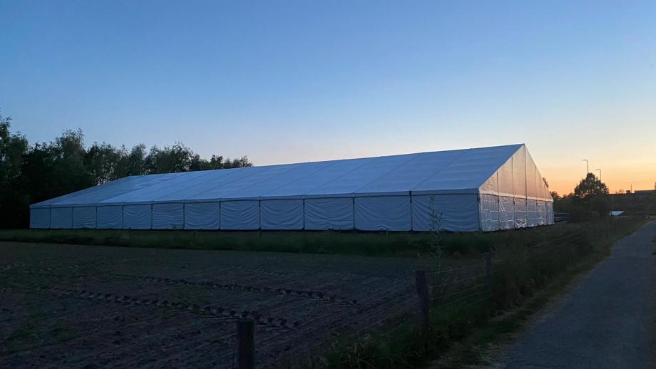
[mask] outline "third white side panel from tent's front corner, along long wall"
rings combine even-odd
[[[353,199],[305,199],[305,229],[353,229]]]

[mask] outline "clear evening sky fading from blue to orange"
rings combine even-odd
[[[552,189],[656,182],[656,1],[0,0],[31,142],[256,165],[524,142]]]

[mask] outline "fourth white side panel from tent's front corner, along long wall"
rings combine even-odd
[[[262,229],[303,229],[303,200],[260,201],[260,227]]]

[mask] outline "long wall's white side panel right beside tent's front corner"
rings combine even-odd
[[[436,194],[412,197],[412,229],[452,232],[478,230],[478,195]]]

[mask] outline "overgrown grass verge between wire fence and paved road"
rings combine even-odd
[[[604,259],[617,239],[643,223],[613,219],[587,224],[571,237],[547,244],[497,244],[491,293],[483,289],[438,298],[431,306],[426,332],[411,318],[384,335],[371,333],[355,342],[337,340],[325,363],[329,368],[417,368],[436,359],[436,368],[484,363],[481,348],[521,328],[576,275]],[[467,291],[465,286],[461,289]]]

